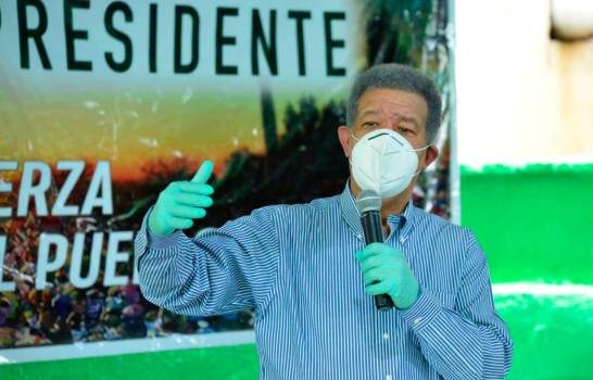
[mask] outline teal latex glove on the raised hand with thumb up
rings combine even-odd
[[[148,219],[152,233],[172,235],[176,229],[193,226],[193,219],[206,216],[205,208],[213,203],[209,195],[214,193],[214,188],[206,185],[212,169],[212,162],[205,161],[190,181],[171,182],[161,191]]]

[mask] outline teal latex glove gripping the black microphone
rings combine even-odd
[[[384,243],[373,243],[356,252],[356,259],[368,294],[388,294],[398,308],[408,308],[418,299],[418,281],[398,249]]]

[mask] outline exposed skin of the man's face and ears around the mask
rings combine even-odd
[[[388,88],[370,89],[358,99],[357,111],[352,129],[345,126],[338,128],[338,137],[346,157],[351,156],[356,143],[352,135],[359,139],[375,129],[392,129],[406,138],[414,149],[428,144],[428,105],[419,94]],[[438,154],[439,151],[433,145],[419,151],[418,169],[428,167]],[[409,191],[416,182],[415,179],[408,188]]]

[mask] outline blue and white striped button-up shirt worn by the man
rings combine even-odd
[[[148,214],[147,214],[148,215]],[[185,315],[255,309],[261,379],[502,379],[513,343],[475,236],[409,203],[387,244],[420,284],[408,309],[378,312],[354,253],[359,213],[342,194],[253,211],[188,238],[135,243],[142,294]]]

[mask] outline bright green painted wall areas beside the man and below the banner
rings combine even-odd
[[[593,165],[462,168],[462,223],[494,284],[593,284]],[[591,294],[495,295],[509,379],[593,379]],[[252,344],[0,366],[1,379],[257,379]]]

